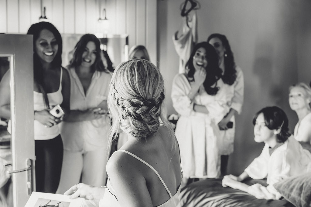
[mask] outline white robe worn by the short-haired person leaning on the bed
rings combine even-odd
[[[311,153],[302,148],[293,136],[272,154],[269,154],[269,146],[263,147],[261,154],[253,160],[245,169],[249,177],[253,179],[267,178],[267,187],[260,186],[265,194],[266,199],[279,199],[281,194],[275,190],[273,184],[290,176],[299,175],[309,172],[311,169]],[[259,184],[260,185],[260,184]],[[250,191],[255,191],[258,183],[249,187]]]

